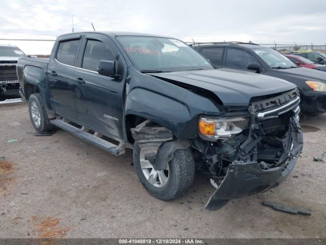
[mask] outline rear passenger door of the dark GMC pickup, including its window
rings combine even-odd
[[[76,120],[73,72],[80,38],[74,34],[59,39],[47,69],[52,104],[59,115],[72,120]]]

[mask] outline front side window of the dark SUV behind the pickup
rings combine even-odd
[[[228,48],[226,66],[247,69],[250,62],[258,63],[256,59],[246,51],[237,48]]]

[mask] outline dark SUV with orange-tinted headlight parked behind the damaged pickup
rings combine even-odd
[[[283,54],[255,43],[214,42],[191,44],[215,67],[252,71],[294,83],[300,90],[302,112],[326,112],[326,76],[320,70],[300,68]]]

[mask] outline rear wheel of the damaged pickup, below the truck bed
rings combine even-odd
[[[29,112],[32,124],[37,132],[49,133],[56,129],[48,118],[42,97],[39,93],[33,93],[29,99]]]

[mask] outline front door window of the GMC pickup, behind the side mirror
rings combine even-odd
[[[101,41],[88,40],[82,68],[97,71],[97,65],[100,60],[114,60],[111,50]]]

